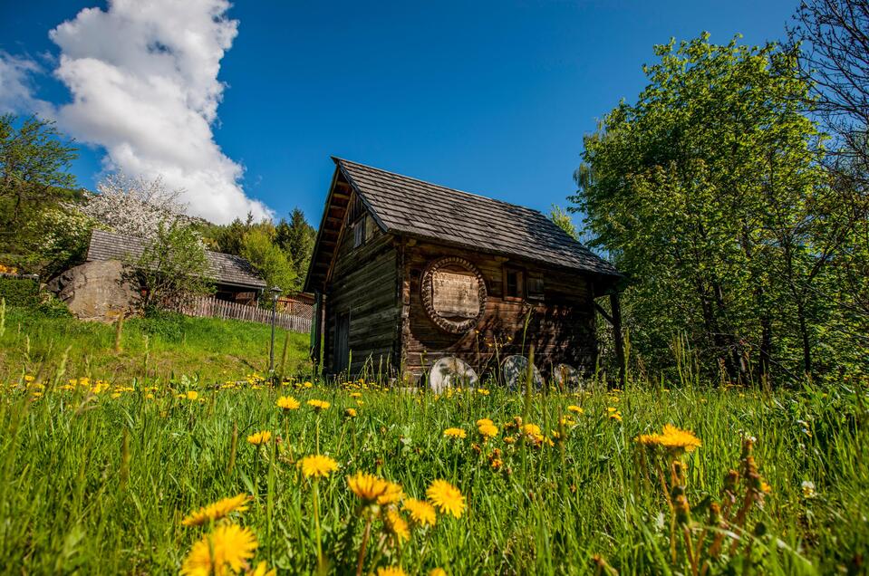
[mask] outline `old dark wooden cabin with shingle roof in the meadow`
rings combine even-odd
[[[530,344],[545,375],[594,369],[595,299],[619,322],[612,264],[536,210],[333,160],[304,285],[324,372],[419,377],[454,356],[483,374]]]

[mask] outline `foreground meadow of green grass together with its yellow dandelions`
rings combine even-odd
[[[2,382],[4,571],[865,570],[865,382],[438,396],[84,376],[82,352]]]

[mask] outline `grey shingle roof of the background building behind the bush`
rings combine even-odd
[[[90,260],[135,260],[145,250],[141,238],[93,230],[87,259]],[[233,284],[244,288],[265,288],[266,282],[256,275],[245,258],[234,254],[205,251],[208,258],[208,278],[218,283]]]

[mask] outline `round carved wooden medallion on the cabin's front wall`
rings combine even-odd
[[[443,331],[463,334],[486,310],[486,281],[477,266],[458,256],[433,261],[422,273],[422,305]]]

